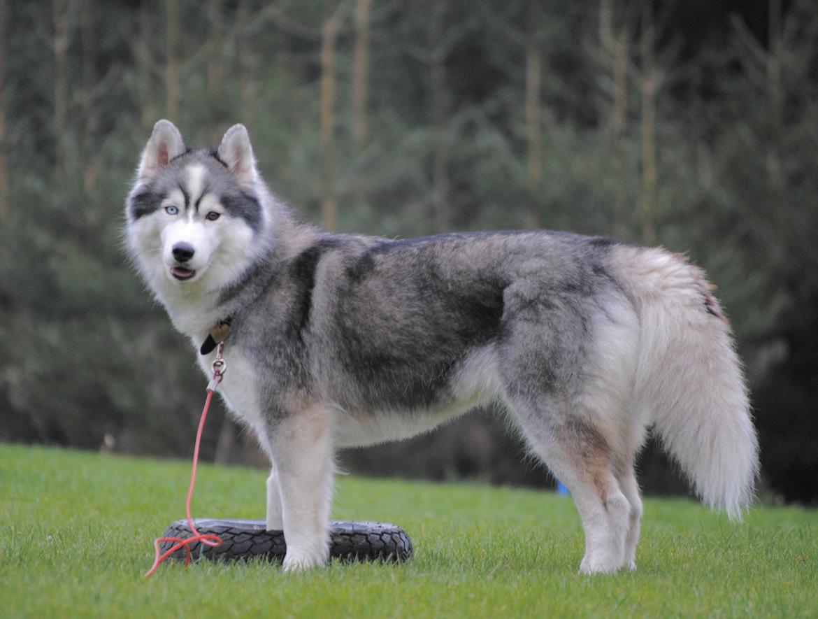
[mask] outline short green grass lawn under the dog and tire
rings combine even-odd
[[[569,499],[474,485],[339,478],[334,517],[395,522],[416,555],[283,574],[265,563],[160,567],[189,464],[0,445],[2,617],[815,617],[818,513],[744,524],[648,499],[638,570],[580,576]],[[194,517],[263,517],[263,472],[200,468]]]

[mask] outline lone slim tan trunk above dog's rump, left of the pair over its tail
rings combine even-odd
[[[536,29],[540,24],[537,2],[532,2],[528,19],[530,31],[525,46],[525,120],[528,150],[528,228],[537,228],[542,198],[542,52]]]

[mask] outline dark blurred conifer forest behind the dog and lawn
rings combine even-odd
[[[329,228],[686,252],[735,325],[763,497],[818,501],[815,0],[0,0],[0,86],[0,440],[187,457],[205,378],[126,264],[124,197],[156,120],[243,122]],[[203,450],[263,462],[223,411]],[[341,463],[552,483],[523,455],[485,410]]]

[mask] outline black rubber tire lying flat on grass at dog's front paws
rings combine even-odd
[[[212,561],[239,561],[263,557],[267,561],[281,563],[287,552],[282,531],[267,531],[263,520],[209,520],[194,521],[200,533],[212,533],[222,538],[222,545],[216,548],[194,542],[191,544],[192,558],[206,558]],[[385,522],[332,522],[330,535],[330,557],[347,561],[405,561],[411,557],[411,540],[400,526]],[[165,529],[163,537],[191,536],[187,520],[172,522]],[[173,542],[162,542],[160,551],[164,553]],[[184,549],[178,549],[169,558],[184,560]]]

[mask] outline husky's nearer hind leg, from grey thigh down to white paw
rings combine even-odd
[[[631,462],[622,457],[623,429],[639,322],[609,278],[583,281],[586,294],[570,278],[553,289],[530,280],[506,288],[498,350],[506,402],[577,504],[585,530],[580,572],[610,573],[627,563],[631,529],[631,503],[616,475]]]

